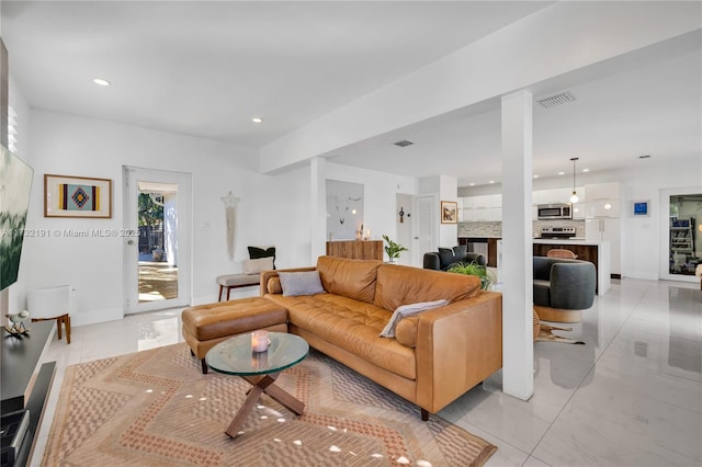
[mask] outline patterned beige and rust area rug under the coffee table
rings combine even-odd
[[[276,384],[235,440],[224,431],[249,384],[203,375],[186,344],[70,366],[44,466],[479,466],[497,449],[312,351]]]

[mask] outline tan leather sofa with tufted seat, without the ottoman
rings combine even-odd
[[[325,294],[283,296],[281,271],[265,271],[261,295],[287,308],[288,332],[416,403],[423,420],[502,366],[501,294],[477,277],[335,257],[316,270]],[[397,307],[439,299],[451,303],[380,337]]]

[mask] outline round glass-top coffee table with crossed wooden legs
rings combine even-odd
[[[230,437],[237,436],[263,392],[298,415],[305,409],[302,401],[273,383],[283,369],[298,364],[307,356],[309,344],[303,338],[285,332],[269,332],[268,337],[270,344],[264,352],[251,350],[251,334],[248,333],[218,343],[205,355],[205,363],[215,372],[241,376],[252,385],[226,431]]]

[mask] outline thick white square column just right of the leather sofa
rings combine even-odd
[[[532,94],[502,96],[502,391],[534,392]]]

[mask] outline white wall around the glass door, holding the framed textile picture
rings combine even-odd
[[[250,148],[46,111],[33,110],[30,125],[35,183],[27,228],[52,234],[27,239],[22,258],[26,280],[18,300],[27,288],[70,283],[77,292],[76,324],[122,317],[122,239],[67,238],[54,232],[122,228],[123,164],[192,174],[194,304],[216,300],[215,277],[240,272],[249,244],[284,246],[276,261],[279,267],[299,265],[305,259],[296,251],[304,240],[290,228],[299,218],[305,223],[298,207],[307,205],[305,185],[296,181],[299,172],[261,175],[252,169],[258,167],[258,159]],[[45,218],[45,173],[112,179],[113,217]],[[240,198],[234,262],[226,253],[220,201],[229,191]]]

